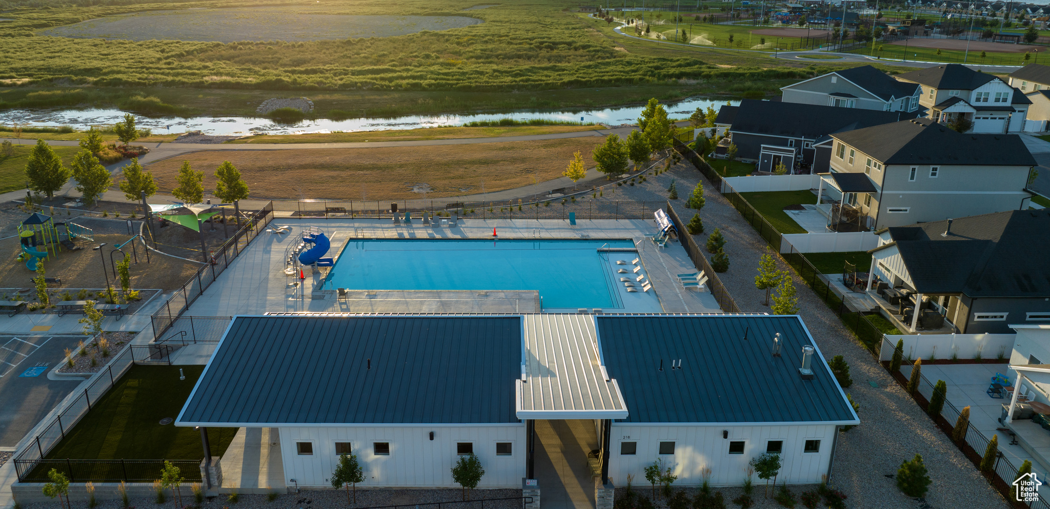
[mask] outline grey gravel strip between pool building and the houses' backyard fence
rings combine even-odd
[[[671,171],[650,176],[647,182],[631,188],[617,188],[615,193],[605,193],[605,199],[655,200],[667,196],[671,178],[676,181],[678,197],[672,200],[684,221],[695,211],[685,208],[685,200],[701,175],[691,164],[682,161]],[[766,249],[765,241],[717,191],[704,181],[707,205],[699,212],[705,233],[719,228],[726,236],[726,254],[730,269],[719,274],[727,290],[743,312],[768,313],[762,305],[764,291],[755,288],[758,259]],[[696,237],[700,246],[706,235]],[[778,259],[781,269],[791,267]],[[798,276],[793,276],[798,281]],[[978,472],[963,453],[915,402],[904,394],[889,374],[879,366],[872,355],[854,338],[845,325],[808,287],[797,283],[800,315],[817,340],[824,357],[841,355],[850,366],[854,384],[848,389],[860,405],[861,425],[839,436],[835,455],[832,484],[842,490],[853,508],[916,508],[921,502],[902,494],[892,479],[904,460],[918,452],[922,454],[933,481],[927,493],[926,507],[1006,508],[1002,495]],[[878,387],[873,387],[874,382]]]

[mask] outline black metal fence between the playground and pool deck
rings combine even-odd
[[[215,248],[214,251],[210,253],[209,262],[201,269],[197,270],[192,277],[189,278],[183,287],[175,291],[175,293],[168,299],[167,302],[161,305],[156,312],[150,317],[150,321],[153,325],[153,338],[165,339],[162,337],[169,327],[175,322],[175,320],[189,309],[190,304],[196,300],[204,291],[215,282],[219,274],[230,267],[230,262],[236,259],[244,251],[248,243],[258,236],[260,232],[266,229],[266,226],[273,220],[273,203],[268,203],[262,207],[261,210],[255,213],[255,215],[237,233],[233,234],[232,237],[228,238],[223,245]],[[170,336],[168,336],[170,337]]]

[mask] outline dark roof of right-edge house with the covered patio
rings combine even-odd
[[[950,228],[946,220],[890,227],[889,235],[918,292],[1050,297],[1046,210],[961,217]]]

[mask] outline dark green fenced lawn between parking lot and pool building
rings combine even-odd
[[[186,380],[178,380],[178,369]],[[161,425],[176,418],[203,365],[135,365],[117,382],[48,454],[49,459],[197,460],[204,457],[201,432]],[[209,428],[213,455],[226,452],[237,428]]]

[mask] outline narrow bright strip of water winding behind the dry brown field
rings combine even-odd
[[[740,104],[738,100],[729,101]],[[666,104],[672,119],[686,119],[696,108],[715,109],[727,101],[723,99],[690,98],[677,103]],[[562,122],[600,122],[606,125],[633,124],[642,114],[643,105],[616,108],[575,111],[509,111],[503,113],[463,113],[442,115],[405,115],[392,119],[346,119],[304,120],[294,124],[278,124],[270,119],[251,116],[192,116],[188,119],[164,116],[149,119],[136,115],[140,127],[149,127],[154,134],[181,133],[200,130],[206,134],[301,134],[331,131],[378,131],[386,129],[418,129],[422,127],[461,126],[468,122],[499,121],[513,119],[527,121],[544,119]],[[0,110],[0,124],[12,122],[27,123],[29,126],[72,126],[86,130],[91,126],[111,125],[124,120],[124,111],[119,109],[10,109]]]

